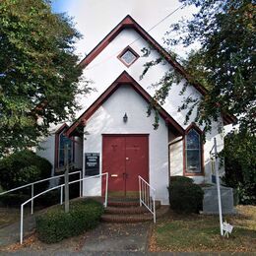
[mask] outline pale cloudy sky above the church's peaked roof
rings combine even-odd
[[[73,17],[76,29],[83,34],[83,39],[77,43],[77,53],[81,58],[128,14],[166,47],[163,36],[169,25],[191,17],[195,8],[179,9],[151,29],[181,5],[178,0],[52,0],[53,11]],[[181,46],[172,50],[182,57],[186,55],[186,49]]]

